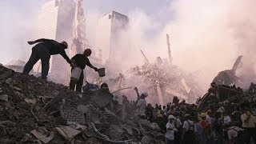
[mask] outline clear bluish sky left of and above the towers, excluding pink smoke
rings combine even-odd
[[[49,0],[0,1],[0,63],[6,64],[14,58],[27,59],[30,46],[26,44],[26,39],[35,37],[40,6],[47,1]],[[134,10],[142,10],[164,25],[169,18],[161,10],[168,7],[169,3],[169,0],[84,0],[83,8],[86,14],[106,14],[110,10],[130,14]]]

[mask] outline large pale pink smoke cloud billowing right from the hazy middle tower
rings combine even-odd
[[[219,71],[230,70],[240,54],[243,58],[238,75],[252,76],[255,69],[255,6],[254,0],[177,0],[165,9],[169,18],[165,26],[143,10],[133,10],[128,14],[130,27],[123,35],[123,39],[130,37],[132,50],[130,58],[123,58],[119,66],[127,70],[130,65],[142,64],[140,49],[150,62],[158,56],[168,58],[166,34],[170,34],[174,65],[197,74],[202,90],[207,90]],[[254,80],[250,77],[250,81]]]

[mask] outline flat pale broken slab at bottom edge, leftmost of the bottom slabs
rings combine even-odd
[[[46,127],[38,127],[38,129],[30,131],[30,133],[44,143],[48,143],[54,138],[54,132],[49,133]]]

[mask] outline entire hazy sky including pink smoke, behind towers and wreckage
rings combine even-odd
[[[0,63],[27,61],[31,46],[26,41],[35,38],[38,12],[46,1],[0,0]],[[118,10],[129,16],[129,32],[137,46],[127,56],[136,64],[142,61],[140,48],[150,62],[166,58],[166,34],[170,34],[174,64],[202,71],[204,86],[219,71],[230,69],[240,54],[243,67],[256,70],[255,0],[84,0],[82,7],[92,43],[103,14]]]

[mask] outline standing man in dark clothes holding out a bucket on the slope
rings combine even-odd
[[[76,91],[82,92],[82,83],[83,83],[83,70],[86,68],[86,65],[90,68],[94,69],[95,71],[98,71],[98,68],[92,66],[89,61],[89,57],[91,54],[90,49],[86,49],[83,54],[76,54],[73,58],[71,58],[71,61],[74,63],[75,66],[78,66],[82,69],[82,73],[80,74],[80,77],[78,79],[78,82],[75,82],[73,79],[70,79],[70,90],[74,90],[74,87],[76,85]],[[73,70],[73,68],[72,68]],[[71,73],[72,73],[71,70]]]

